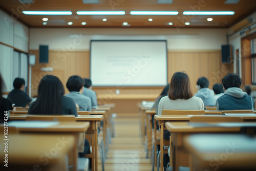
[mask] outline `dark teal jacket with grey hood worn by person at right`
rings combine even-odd
[[[254,99],[240,88],[228,88],[216,101],[217,110],[253,110]]]

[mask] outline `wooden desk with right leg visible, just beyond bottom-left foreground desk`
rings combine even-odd
[[[19,133],[61,133],[61,134],[68,134],[75,137],[75,143],[73,146],[73,167],[74,170],[77,170],[77,143],[78,143],[78,134],[86,132],[88,127],[90,126],[89,122],[57,122],[57,124],[48,126],[48,127],[31,127],[28,126],[28,122],[34,121],[18,121],[20,125],[16,125],[17,131]],[[38,122],[38,121],[36,121]],[[44,122],[44,121],[41,121]],[[52,122],[52,121],[47,121]],[[15,123],[14,121],[10,123]],[[11,125],[9,123],[9,126]],[[27,126],[27,127],[26,127]]]

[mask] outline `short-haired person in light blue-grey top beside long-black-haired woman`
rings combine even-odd
[[[70,91],[66,97],[71,97],[79,106],[79,111],[92,111],[92,102],[89,97],[82,95],[83,79],[78,75],[69,77],[66,87]]]

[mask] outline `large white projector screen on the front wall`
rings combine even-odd
[[[166,86],[166,40],[91,40],[93,86]]]

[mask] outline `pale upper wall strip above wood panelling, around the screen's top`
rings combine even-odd
[[[227,29],[30,28],[30,50],[49,45],[54,50],[89,50],[90,40],[167,40],[168,50],[220,50]]]

